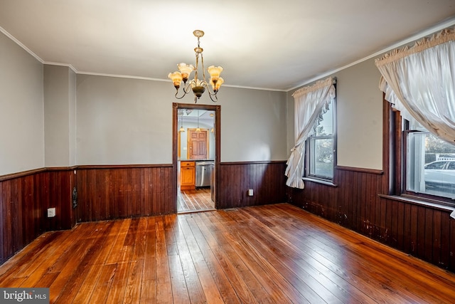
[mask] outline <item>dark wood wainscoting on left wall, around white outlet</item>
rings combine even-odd
[[[73,169],[37,169],[0,177],[0,263],[45,231],[71,229]],[[56,216],[47,217],[55,207]]]

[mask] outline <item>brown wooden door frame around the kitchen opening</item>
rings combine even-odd
[[[215,112],[215,209],[218,206],[218,184],[220,184],[220,142],[221,142],[221,106],[220,105],[198,105],[193,103],[172,103],[172,191],[173,191],[173,206],[177,213],[177,178],[178,178],[178,109],[196,109],[208,110]]]

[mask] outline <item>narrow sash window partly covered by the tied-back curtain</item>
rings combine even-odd
[[[335,100],[332,100],[321,119],[316,121],[314,134],[306,140],[305,177],[333,180],[335,108]]]

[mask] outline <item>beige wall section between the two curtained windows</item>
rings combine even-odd
[[[382,169],[382,92],[373,59],[335,74],[338,165]]]

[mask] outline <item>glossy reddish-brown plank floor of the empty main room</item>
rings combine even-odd
[[[0,266],[50,303],[455,303],[455,275],[289,204],[78,224]]]

